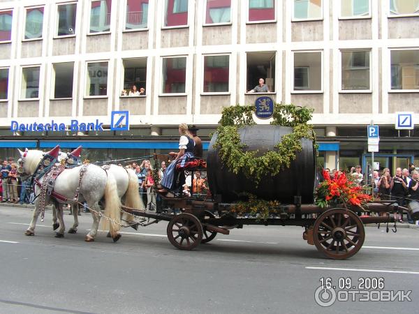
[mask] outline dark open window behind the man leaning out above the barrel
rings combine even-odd
[[[262,78],[269,91],[275,91],[275,52],[247,53],[247,91]]]

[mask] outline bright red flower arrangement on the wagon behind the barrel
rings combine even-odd
[[[315,203],[319,207],[325,208],[329,204],[362,207],[371,200],[371,195],[362,193],[362,188],[349,180],[343,172],[336,172],[332,179],[329,172],[323,171],[323,178],[325,181],[318,185],[315,195]]]

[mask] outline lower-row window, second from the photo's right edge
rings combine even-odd
[[[369,50],[341,54],[341,89],[369,90]]]

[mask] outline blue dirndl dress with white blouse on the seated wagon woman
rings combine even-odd
[[[168,190],[175,190],[180,185],[177,184],[177,174],[176,165],[182,165],[191,158],[193,158],[193,149],[195,147],[195,142],[190,137],[186,137],[182,135],[179,139],[179,149],[185,149],[185,154],[178,160],[173,160],[170,165],[166,168],[166,172],[164,173],[163,179],[161,180],[161,186]]]

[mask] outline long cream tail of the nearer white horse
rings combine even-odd
[[[115,180],[115,177],[112,173],[107,173],[108,181],[105,186],[105,216],[110,218],[110,234],[115,238],[117,232],[121,229],[121,199],[118,196],[117,181]]]

